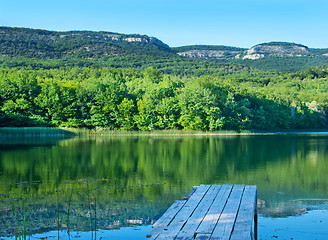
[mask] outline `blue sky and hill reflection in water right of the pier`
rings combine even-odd
[[[260,209],[258,223],[259,239],[326,240],[328,199],[295,199],[275,209]]]

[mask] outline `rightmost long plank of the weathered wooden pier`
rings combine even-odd
[[[250,239],[256,198],[256,186],[245,186],[231,240]]]

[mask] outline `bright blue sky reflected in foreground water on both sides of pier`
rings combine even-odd
[[[328,236],[328,209],[314,210],[306,214],[291,216],[287,218],[270,218],[259,216],[258,220],[258,239],[294,239],[294,240],[326,240]],[[315,229],[315,231],[314,231]],[[118,230],[98,230],[97,239],[111,240],[145,240],[150,232],[151,226],[122,227]],[[70,236],[66,231],[51,231],[43,234],[35,234],[32,238],[38,239],[48,237],[56,239],[80,239],[89,240],[94,237],[94,232],[71,232]],[[10,239],[10,238],[4,238]],[[11,238],[14,239],[14,238]]]

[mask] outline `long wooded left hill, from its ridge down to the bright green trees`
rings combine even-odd
[[[249,71],[248,67],[239,64],[179,56],[159,39],[146,35],[9,27],[0,27],[0,67],[114,67],[140,70],[153,67],[176,75]]]

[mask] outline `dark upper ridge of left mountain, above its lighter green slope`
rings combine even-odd
[[[155,37],[112,32],[55,32],[0,27],[0,55],[33,58],[86,57],[108,55],[167,54],[168,45]]]

